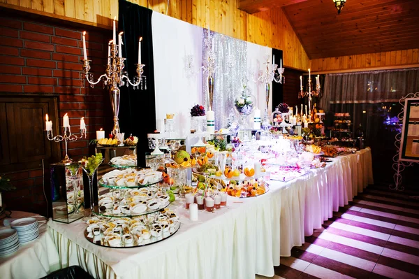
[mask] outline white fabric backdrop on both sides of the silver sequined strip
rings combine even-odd
[[[175,113],[175,131],[179,136],[186,136],[190,129],[190,110],[197,103],[204,103],[202,59],[203,28],[182,20],[154,12],[152,15],[153,48],[154,48],[154,83],[156,87],[156,126],[163,129],[166,113]],[[228,38],[228,40],[237,40]],[[266,55],[272,61],[272,48],[245,42],[247,44],[248,87],[256,96],[261,117],[265,112],[265,85],[258,82],[258,72],[263,70]],[[227,52],[226,52],[227,53]],[[196,74],[190,78],[185,73],[185,58],[193,55],[193,69]],[[226,57],[225,57],[226,58]],[[223,59],[221,59],[223,61]],[[279,62],[277,62],[279,63]],[[240,64],[240,63],[239,63]],[[216,89],[216,88],[215,88]],[[272,92],[272,86],[271,86]],[[238,93],[238,92],[237,92]],[[227,94],[217,92],[216,94]],[[270,104],[272,93],[270,94]],[[270,110],[270,113],[272,111]],[[250,116],[253,122],[253,114]]]

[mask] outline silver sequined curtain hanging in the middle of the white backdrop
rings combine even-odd
[[[203,41],[208,36],[204,29]],[[214,101],[212,110],[215,113],[215,129],[226,127],[228,115],[238,115],[233,108],[235,96],[247,83],[247,43],[237,38],[210,31],[214,44],[216,70],[214,72]],[[207,48],[203,43],[203,66],[207,63]],[[203,73],[203,100],[208,108],[208,75]],[[252,92],[253,94],[253,92]]]

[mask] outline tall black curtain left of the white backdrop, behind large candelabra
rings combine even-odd
[[[125,136],[138,136],[138,166],[145,166],[145,152],[149,151],[147,134],[156,129],[156,98],[154,95],[154,64],[152,10],[119,0],[119,31],[124,31],[122,57],[126,57],[126,70],[131,78],[135,76],[138,62],[138,38],[142,37],[141,62],[145,64],[143,75],[146,84],[142,90],[121,87],[119,120]],[[118,34],[118,32],[117,32]]]

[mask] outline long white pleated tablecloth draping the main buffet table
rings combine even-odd
[[[254,278],[274,276],[281,256],[290,256],[304,236],[321,228],[339,206],[372,184],[371,150],[332,159],[288,183],[270,182],[270,191],[249,199],[228,197],[228,206],[199,213],[191,222],[183,203],[179,231],[154,245],[103,248],[84,238],[81,220],[48,225],[61,266],[79,265],[96,278]]]

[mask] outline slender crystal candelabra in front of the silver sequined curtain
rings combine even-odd
[[[207,85],[208,85],[208,108],[212,110],[212,100],[214,98],[214,73],[217,69],[215,64],[215,52],[214,45],[212,42],[211,32],[207,30],[207,37],[204,40],[204,48],[207,52],[207,61],[203,64],[202,69],[203,73],[207,76]]]

